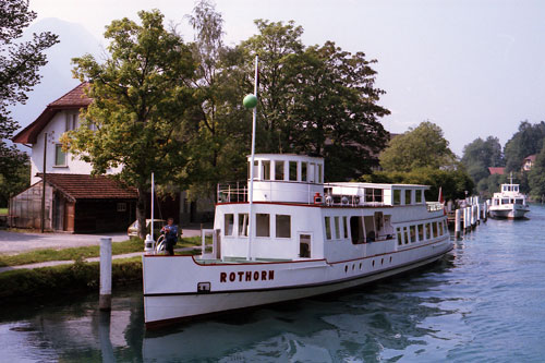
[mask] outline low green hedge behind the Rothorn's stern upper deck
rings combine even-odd
[[[366,176],[362,181],[429,185],[429,190],[425,192],[426,201],[438,201],[439,187],[445,201],[464,198],[465,191],[471,193],[474,187],[473,181],[463,169],[417,168],[411,171],[378,171]]]

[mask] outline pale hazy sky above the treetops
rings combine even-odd
[[[57,17],[85,27],[105,44],[112,20],[137,20],[159,9],[193,39],[187,0],[31,0],[37,21]],[[504,0],[216,0],[225,40],[256,33],[255,19],[293,20],[305,45],[332,40],[343,50],[376,59],[382,122],[402,133],[429,120],[461,156],[476,137],[501,145],[521,121],[545,120],[545,1]]]

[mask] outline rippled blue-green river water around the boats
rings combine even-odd
[[[492,220],[443,261],[334,295],[144,329],[142,289],[0,312],[1,362],[543,362],[545,207]]]

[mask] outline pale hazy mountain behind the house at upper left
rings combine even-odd
[[[25,128],[44,111],[46,106],[80,84],[72,77],[71,59],[85,53],[100,57],[102,47],[85,27],[60,19],[47,17],[31,25],[23,36],[29,39],[33,33],[51,32],[59,36],[60,43],[47,52],[48,63],[40,69],[40,84],[28,93],[26,105],[12,107],[11,114],[19,125]]]

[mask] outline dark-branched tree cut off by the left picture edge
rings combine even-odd
[[[0,179],[4,181],[19,180],[20,167],[28,159],[26,154],[5,142],[17,129],[9,107],[25,104],[26,94],[41,78],[39,68],[47,63],[44,51],[59,41],[57,35],[49,32],[34,34],[28,41],[17,41],[34,19],[36,13],[28,10],[28,1],[4,0],[0,3]],[[25,186],[17,182],[13,185]],[[4,202],[0,203],[3,205]]]

